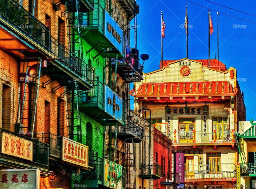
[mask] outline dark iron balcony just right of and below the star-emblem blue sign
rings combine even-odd
[[[124,139],[126,143],[138,143],[143,141],[144,128],[137,122],[129,119],[125,126],[119,126],[117,137]]]

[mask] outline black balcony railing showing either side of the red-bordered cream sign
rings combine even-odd
[[[61,158],[61,148],[62,148],[62,137],[58,135],[54,135],[53,133],[36,133],[36,137],[38,140],[49,144],[49,150],[47,154],[52,157]],[[48,155],[47,155],[47,158]],[[89,149],[89,156],[88,156],[88,166],[93,167],[94,163],[94,152],[93,150]]]

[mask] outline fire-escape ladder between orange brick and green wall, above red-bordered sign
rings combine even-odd
[[[68,136],[70,139],[74,139],[74,136],[77,136],[77,142],[82,141],[81,133],[81,115],[80,115],[80,104],[79,96],[83,91],[79,92],[77,81],[74,82],[74,86],[67,90],[67,87],[64,87],[65,92],[65,108],[66,108],[66,122]],[[72,105],[73,104],[73,105]]]

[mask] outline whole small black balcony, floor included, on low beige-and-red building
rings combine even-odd
[[[162,166],[155,163],[139,163],[141,173],[140,178],[143,179],[160,179],[162,178]]]

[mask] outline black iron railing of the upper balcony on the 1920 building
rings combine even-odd
[[[175,137],[176,136],[176,137]],[[234,135],[233,135],[234,136]],[[216,131],[214,136],[214,131],[193,131],[190,132],[183,132],[183,131],[177,131],[170,132],[170,138],[175,143],[208,143],[208,142],[214,142],[216,140],[216,143],[220,142],[232,142],[232,139],[235,140],[235,138],[232,138],[232,132],[226,131],[226,132],[218,132]]]

